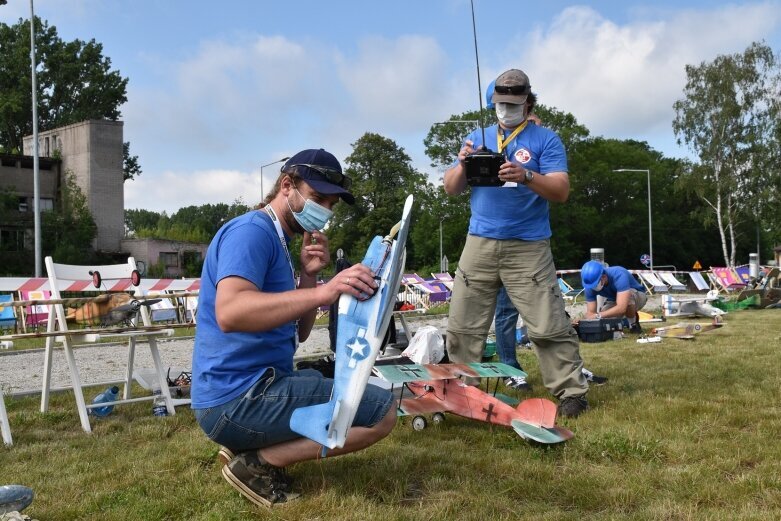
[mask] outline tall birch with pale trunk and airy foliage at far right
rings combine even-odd
[[[715,221],[724,262],[736,264],[741,222],[778,215],[781,187],[781,71],[764,43],[742,54],[686,66],[684,99],[674,104],[673,130],[699,157],[679,178]],[[775,212],[765,211],[768,207]]]

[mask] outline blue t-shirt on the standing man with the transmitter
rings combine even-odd
[[[496,152],[498,125],[485,129],[488,148]],[[503,131],[503,139],[512,132]],[[469,134],[473,148],[483,144],[480,129]],[[539,174],[567,172],[567,154],[555,132],[529,123],[503,150],[513,163]],[[489,239],[537,241],[551,236],[548,201],[518,183],[515,187],[473,186],[469,233]]]

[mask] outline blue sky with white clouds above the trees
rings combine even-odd
[[[7,0],[0,22],[29,18]],[[764,40],[781,53],[781,0],[474,0],[483,89],[507,69],[593,136],[667,157],[685,66]],[[143,173],[125,208],[254,205],[306,148],[341,161],[366,132],[392,139],[439,183],[423,139],[477,110],[469,0],[35,0],[66,41],[103,44],[129,78],[124,139]],[[632,165],[626,165],[631,168]],[[261,170],[263,181],[261,182]],[[577,175],[577,172],[570,172]]]

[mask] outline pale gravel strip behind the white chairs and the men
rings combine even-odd
[[[583,304],[568,306],[570,314],[575,317],[584,309]],[[658,310],[660,298],[649,298],[647,309]],[[423,325],[433,325],[444,335],[447,327],[447,316],[409,316],[407,323],[414,331]],[[397,320],[396,327],[401,328]],[[297,359],[316,358],[329,352],[328,329],[325,326],[315,327],[306,342],[299,347]],[[158,340],[160,356],[164,367],[189,368],[192,364],[193,338],[177,338],[174,340]],[[80,346],[75,350],[76,363],[79,366],[82,382],[98,384],[121,381],[125,375],[127,359],[126,344],[100,344]],[[0,388],[4,393],[40,392],[43,375],[43,349],[27,351],[0,351]],[[62,349],[55,349],[52,357],[52,388],[70,385],[70,372]],[[139,340],[136,344],[135,367],[153,368],[152,357],[146,343]]]

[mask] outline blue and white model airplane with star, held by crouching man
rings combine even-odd
[[[378,280],[375,294],[366,300],[347,294],[339,298],[331,399],[327,403],[296,409],[290,419],[290,428],[323,445],[323,452],[326,448],[344,446],[388,328],[404,269],[404,245],[409,233],[412,199],[411,195],[407,196],[401,221],[388,236],[374,238],[362,261]]]

